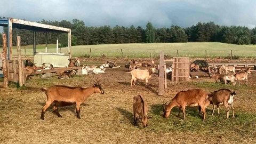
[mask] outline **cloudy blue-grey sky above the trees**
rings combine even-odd
[[[198,22],[218,25],[256,25],[255,0],[0,0],[0,17],[27,21],[82,20],[85,26],[155,28]],[[0,27],[2,30],[2,28]]]

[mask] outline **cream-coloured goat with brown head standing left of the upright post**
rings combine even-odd
[[[150,69],[133,69],[132,71],[128,72],[131,73],[132,79],[131,79],[131,87],[132,85],[135,86],[135,82],[137,79],[144,80],[146,79],[146,86],[148,83],[148,79],[152,77],[152,74],[155,73],[155,68]]]

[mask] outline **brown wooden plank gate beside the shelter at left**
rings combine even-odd
[[[22,77],[23,84],[25,84],[26,76],[24,73],[24,63],[22,62]],[[19,62],[18,60],[7,60],[7,68],[9,73],[9,82],[18,83],[19,82]]]

